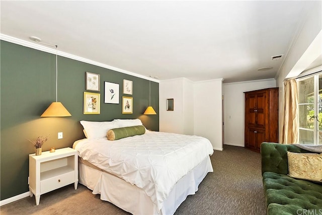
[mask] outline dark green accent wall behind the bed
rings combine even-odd
[[[70,117],[40,117],[56,100],[55,54],[1,40],[1,200],[29,191],[29,158],[35,148],[28,139],[49,135],[43,151],[72,147],[85,138],[80,120],[139,118],[147,129],[159,130],[159,84],[151,82],[151,106],[157,115],[143,115],[149,104],[149,81],[89,63],[58,56],[58,101]],[[86,91],[86,71],[100,75],[100,92]],[[133,82],[133,95],[122,94],[123,79]],[[104,82],[120,86],[120,103],[104,103]],[[101,94],[101,114],[84,115],[84,92]],[[122,96],[133,97],[133,114],[122,114]],[[63,132],[63,139],[57,133]]]

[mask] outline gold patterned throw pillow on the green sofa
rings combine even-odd
[[[322,182],[322,154],[287,152],[287,159],[290,177]]]

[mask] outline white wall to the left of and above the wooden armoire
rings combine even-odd
[[[275,79],[235,82],[222,85],[225,145],[245,147],[244,92],[272,87],[276,87]]]

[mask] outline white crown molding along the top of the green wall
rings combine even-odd
[[[44,52],[47,52],[47,53],[56,54],[56,49],[55,48],[49,48],[49,47],[37,44],[35,42],[29,42],[29,41],[18,39],[16,37],[12,37],[12,36],[9,36],[9,35],[0,34],[0,39],[4,40],[4,41],[7,41],[7,42],[15,43],[15,44],[18,44],[18,45],[33,48],[33,49],[36,49],[36,50],[39,50],[39,51],[44,51]],[[124,74],[134,76],[134,77],[137,77],[137,78],[141,78],[141,79],[145,79],[145,80],[149,80],[149,81],[152,81],[152,82],[159,83],[159,80],[155,80],[155,79],[150,78],[150,77],[142,76],[142,75],[133,73],[132,71],[128,71],[128,70],[124,70],[124,69],[117,68],[117,67],[114,67],[114,66],[110,66],[110,65],[107,65],[107,64],[104,64],[104,63],[100,63],[100,62],[90,60],[90,59],[87,59],[87,58],[84,58],[84,57],[79,57],[79,56],[69,54],[69,53],[66,53],[66,52],[62,52],[62,51],[59,51],[59,50],[57,52],[57,55],[62,56],[62,57],[67,57],[69,59],[89,63],[89,64],[92,64],[92,65],[97,65],[97,66],[107,68],[107,69],[111,69],[111,70],[114,70],[114,71],[118,71],[119,73],[124,73]]]

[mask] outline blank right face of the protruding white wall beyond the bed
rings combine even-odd
[[[222,79],[195,82],[194,134],[208,138],[222,151]]]

